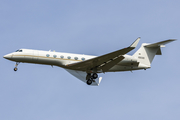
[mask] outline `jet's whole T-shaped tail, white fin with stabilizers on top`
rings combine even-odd
[[[143,43],[139,50],[134,53],[133,57],[136,58],[141,65],[151,67],[155,55],[162,55],[161,47],[165,47],[165,44],[172,41],[175,41],[175,39],[169,39],[153,44]]]

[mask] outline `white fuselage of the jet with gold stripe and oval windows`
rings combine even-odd
[[[140,64],[138,60],[133,56],[123,56],[125,58],[114,67],[112,67],[108,72],[131,71],[149,68],[145,65]],[[13,52],[4,56],[4,58],[15,62],[54,65],[62,68],[67,68],[66,66],[68,64],[81,62],[84,60],[92,59],[94,57],[97,56],[32,49],[20,49],[17,52]]]

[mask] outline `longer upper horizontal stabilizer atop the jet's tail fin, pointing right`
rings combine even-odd
[[[169,40],[165,40],[165,41],[161,41],[161,42],[157,42],[157,43],[153,43],[153,44],[149,44],[149,45],[145,45],[145,47],[165,47],[164,45],[170,42],[175,41],[176,39],[169,39]]]

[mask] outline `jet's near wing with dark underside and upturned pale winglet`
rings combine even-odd
[[[95,57],[86,61],[68,64],[66,66],[67,69],[71,70],[79,70],[79,71],[86,71],[90,72],[91,70],[102,70],[103,72],[108,71],[112,68],[115,64],[119,63],[124,59],[122,55],[128,53],[129,51],[133,50],[140,38],[137,38],[129,47],[117,50],[115,52],[111,52],[99,57]]]

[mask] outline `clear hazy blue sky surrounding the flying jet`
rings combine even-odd
[[[59,67],[14,62],[20,48],[102,55],[180,38],[179,0],[1,0],[0,119],[179,120],[179,41],[146,71],[100,74],[91,87]],[[129,54],[133,54],[135,50]]]

